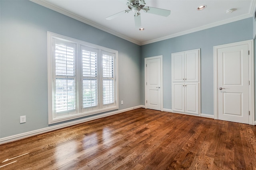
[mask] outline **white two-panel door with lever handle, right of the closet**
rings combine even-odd
[[[220,48],[218,119],[249,124],[248,45]]]

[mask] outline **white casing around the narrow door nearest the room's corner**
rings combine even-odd
[[[146,99],[147,99],[147,86],[146,86],[146,78],[147,78],[147,68],[146,68],[146,61],[147,60],[152,60],[152,59],[160,59],[160,83],[161,83],[161,86],[160,86],[160,95],[161,95],[161,108],[160,108],[160,111],[163,111],[163,55],[158,55],[158,56],[154,56],[154,57],[147,57],[144,59],[144,86],[145,86],[145,108],[147,109],[147,105],[146,105]]]

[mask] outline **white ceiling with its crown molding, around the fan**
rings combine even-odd
[[[146,5],[171,10],[168,17],[140,12],[142,27],[134,25],[134,13],[113,20],[106,17],[127,10],[127,0],[31,0],[84,23],[144,45],[186,33],[252,17],[256,0],[145,0]],[[202,11],[198,6],[207,5]],[[230,14],[226,10],[236,9]]]

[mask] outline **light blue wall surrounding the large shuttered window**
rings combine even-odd
[[[117,50],[119,109],[140,105],[139,45],[30,1],[1,0],[0,17],[0,138],[48,127],[47,31]]]

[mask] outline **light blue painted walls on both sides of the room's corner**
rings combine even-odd
[[[140,47],[33,2],[0,0],[0,138],[48,127],[47,31],[118,51],[119,109],[144,105],[144,58],[157,55],[171,109],[171,53],[201,48],[202,113],[213,114],[213,46],[252,39],[253,28],[248,18]]]

